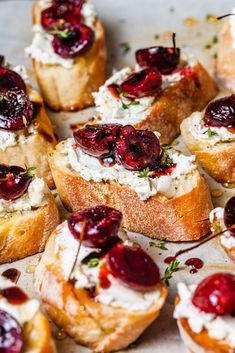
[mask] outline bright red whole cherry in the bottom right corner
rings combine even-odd
[[[193,304],[207,313],[217,315],[235,312],[235,275],[216,273],[205,278],[196,288]]]

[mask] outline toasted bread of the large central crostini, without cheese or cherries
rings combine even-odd
[[[167,199],[155,195],[146,201],[128,186],[117,182],[86,181],[71,169],[64,142],[49,156],[53,178],[63,204],[73,211],[104,204],[123,213],[123,225],[130,231],[169,241],[197,240],[209,231],[208,214],[212,209],[204,178],[196,169],[189,192]]]

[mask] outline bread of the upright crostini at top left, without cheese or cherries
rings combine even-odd
[[[33,6],[33,23],[41,21],[39,3]],[[92,92],[104,83],[106,70],[106,46],[104,29],[97,19],[96,40],[91,49],[74,59],[67,69],[62,65],[43,64],[33,59],[33,67],[43,99],[53,110],[75,111],[94,104]]]

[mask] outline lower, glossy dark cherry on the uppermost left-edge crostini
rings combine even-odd
[[[22,90],[0,92],[0,129],[25,129],[34,118],[33,103]]]

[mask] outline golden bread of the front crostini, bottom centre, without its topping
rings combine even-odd
[[[162,303],[148,311],[131,312],[95,302],[88,291],[75,288],[63,278],[55,252],[55,236],[56,231],[49,238],[35,271],[35,288],[45,310],[76,342],[95,352],[127,347],[158,317],[167,289],[158,285]]]

